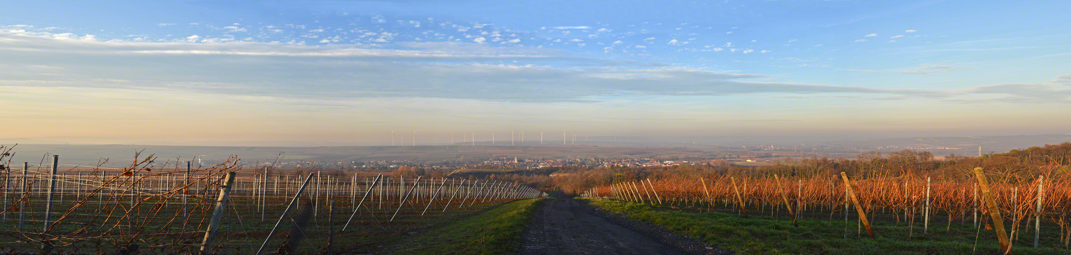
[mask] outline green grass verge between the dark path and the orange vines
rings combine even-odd
[[[845,237],[843,220],[802,219],[800,226],[796,227],[791,220],[771,217],[682,212],[613,200],[591,200],[591,205],[738,254],[994,254],[998,250],[994,232],[983,229],[978,238],[977,251],[972,252],[976,230],[969,223],[961,226],[959,222],[953,222],[947,232],[944,223],[932,223],[931,235],[921,235],[921,223],[918,223],[915,234],[909,237],[907,224],[879,222],[874,225],[877,238],[872,239],[865,237],[865,232],[862,237],[857,236],[855,222],[849,224],[848,236]],[[1059,230],[1055,226],[1042,226],[1042,234],[1050,235],[1042,235],[1040,249],[1032,248],[1031,230],[1020,239],[1012,251],[1015,254],[1068,254],[1067,250],[1053,248],[1058,242]]]

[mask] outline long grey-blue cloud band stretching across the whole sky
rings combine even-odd
[[[196,35],[186,39],[206,41]],[[829,93],[920,99],[1002,94],[1044,102],[1065,100],[1061,98],[1066,96],[1060,95],[1068,93],[1067,90],[1046,85],[1012,84],[939,91],[771,82],[758,80],[773,78],[761,74],[651,68],[527,47],[487,47],[474,43],[409,43],[404,46],[408,49],[250,42],[87,42],[0,33],[0,47],[13,57],[9,64],[50,66],[64,70],[64,76],[42,76],[35,75],[42,71],[27,71],[25,68],[0,69],[0,77],[4,77],[0,84],[163,90],[282,98],[418,97],[537,102],[589,102],[605,97],[643,95]],[[750,49],[737,50],[753,52]],[[518,64],[500,64],[503,62]],[[559,65],[540,64],[550,62]],[[568,65],[561,66],[561,63]],[[969,67],[923,65],[891,70],[848,70],[937,74],[962,68]]]

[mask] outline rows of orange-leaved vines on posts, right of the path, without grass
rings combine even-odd
[[[802,217],[854,221],[845,236],[880,235],[875,222],[907,224],[909,235],[938,235],[959,221],[976,229],[996,228],[1000,248],[1012,245],[1067,249],[1071,224],[1071,180],[1051,168],[1049,176],[1032,179],[992,178],[999,173],[976,169],[977,175],[935,180],[925,176],[840,176],[784,178],[771,176],[718,176],[644,178],[617,181],[583,192],[588,197],[609,197],[635,203],[725,210],[746,217]],[[998,181],[990,182],[991,179]],[[841,218],[843,216],[843,219]],[[941,221],[940,225],[933,222]],[[1004,224],[1008,224],[1005,226]],[[1058,243],[1039,243],[1042,225],[1056,226]],[[1007,233],[1005,228],[1007,227]],[[1045,229],[1052,229],[1046,227]],[[875,234],[876,233],[876,234]],[[1051,236],[1045,236],[1046,238]],[[1025,244],[1020,244],[1026,242]]]

